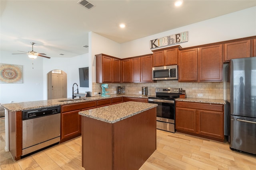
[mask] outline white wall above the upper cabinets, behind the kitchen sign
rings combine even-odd
[[[152,53],[150,40],[183,31],[188,31],[188,42],[175,44],[183,48],[254,36],[256,35],[256,7],[123,43],[120,58],[150,54]]]

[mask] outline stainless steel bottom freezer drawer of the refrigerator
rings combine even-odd
[[[256,118],[230,118],[230,149],[256,154]]]

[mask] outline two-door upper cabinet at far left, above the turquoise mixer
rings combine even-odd
[[[96,56],[96,82],[121,82],[121,61],[105,54]]]

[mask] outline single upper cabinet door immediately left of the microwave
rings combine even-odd
[[[140,82],[152,82],[152,55],[140,58]]]

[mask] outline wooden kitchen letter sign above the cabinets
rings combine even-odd
[[[173,45],[177,43],[183,43],[187,41],[188,41],[188,31],[185,31],[182,33],[168,35],[166,37],[151,40],[150,49],[155,49],[158,47],[164,47],[167,45]]]

